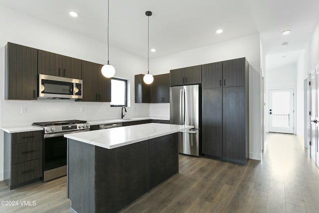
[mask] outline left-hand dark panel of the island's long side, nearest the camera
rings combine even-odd
[[[149,192],[148,141],[95,147],[96,212],[115,213]]]

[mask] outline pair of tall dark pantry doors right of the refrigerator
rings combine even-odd
[[[233,163],[249,158],[247,88],[202,90],[202,153]]]

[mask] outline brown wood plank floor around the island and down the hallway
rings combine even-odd
[[[245,166],[180,155],[179,174],[122,213],[318,213],[319,169],[303,139],[271,133],[267,143],[262,161]],[[65,177],[11,191],[0,182],[0,200],[36,201],[0,212],[71,212]]]

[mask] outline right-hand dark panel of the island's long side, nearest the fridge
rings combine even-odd
[[[178,173],[178,133],[149,140],[150,190]]]

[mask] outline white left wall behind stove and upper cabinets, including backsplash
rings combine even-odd
[[[111,108],[110,103],[68,100],[4,100],[4,45],[8,41],[101,64],[107,63],[107,45],[2,6],[0,6],[0,29],[1,127],[30,125],[36,121],[120,118],[121,108]],[[110,63],[114,65],[117,77],[129,79],[131,82],[131,107],[128,108],[127,116],[149,116],[149,104],[134,103],[134,75],[147,70],[147,59],[110,46]],[[26,113],[20,113],[21,107],[26,107]],[[0,131],[0,156],[0,180],[2,180],[2,131]]]

